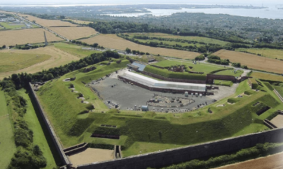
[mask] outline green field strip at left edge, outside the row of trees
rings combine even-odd
[[[3,90],[0,91],[0,108],[0,166],[6,168],[16,152],[16,145]]]

